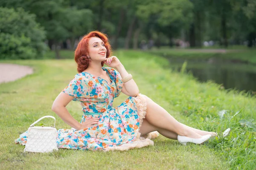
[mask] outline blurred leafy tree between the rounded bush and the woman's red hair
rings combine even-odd
[[[56,58],[60,58],[59,46],[61,42],[85,34],[91,27],[92,12],[88,9],[78,10],[70,6],[72,1],[65,0],[9,0],[0,5],[6,7],[23,7],[26,11],[36,15],[36,20],[47,32],[48,45],[54,47]],[[87,17],[84,17],[87,16]]]

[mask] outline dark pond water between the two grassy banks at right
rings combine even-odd
[[[172,68],[180,70],[185,59],[168,58]],[[199,81],[212,80],[226,89],[256,94],[256,65],[234,63],[222,59],[186,60],[186,71]]]

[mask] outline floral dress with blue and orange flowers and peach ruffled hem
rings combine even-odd
[[[119,96],[123,83],[119,72],[108,67],[102,69],[108,73],[111,84],[105,79],[81,72],[64,88],[65,94],[74,96],[73,101],[81,103],[81,123],[94,117],[99,117],[99,122],[81,130],[59,129],[58,148],[109,151],[153,145],[150,139],[157,137],[157,132],[149,133],[145,138],[139,133],[146,114],[145,97],[141,94],[129,97],[113,108],[113,99]],[[27,132],[21,134],[15,143],[25,145],[26,135]]]

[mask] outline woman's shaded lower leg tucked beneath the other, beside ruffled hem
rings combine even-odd
[[[141,136],[144,136],[154,131],[158,131],[161,135],[165,136],[166,138],[177,140],[177,136],[178,136],[177,133],[171,132],[169,130],[157,128],[151,125],[150,123],[148,123],[146,119],[143,119],[143,123],[140,127]]]

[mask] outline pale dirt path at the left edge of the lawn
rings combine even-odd
[[[0,83],[12,82],[32,73],[33,69],[25,65],[0,63]]]

